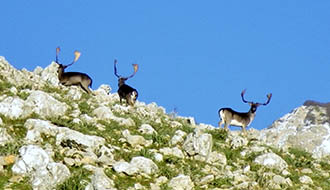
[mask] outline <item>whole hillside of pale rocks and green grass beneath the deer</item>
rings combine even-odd
[[[295,145],[299,131],[328,134],[323,112],[313,111],[319,106],[297,108],[270,129],[244,136],[168,114],[155,103],[120,105],[108,85],[94,95],[58,85],[56,70],[55,63],[16,70],[0,57],[0,189],[330,187],[328,149],[317,157],[307,152],[329,147],[325,141],[314,149],[278,146]],[[298,112],[303,123],[294,120]],[[291,128],[291,136],[280,133]]]

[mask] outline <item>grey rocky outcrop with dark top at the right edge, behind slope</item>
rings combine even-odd
[[[330,155],[330,119],[327,107],[301,106],[261,131],[261,139],[278,147],[296,147],[316,158]],[[317,135],[316,135],[317,134]]]

